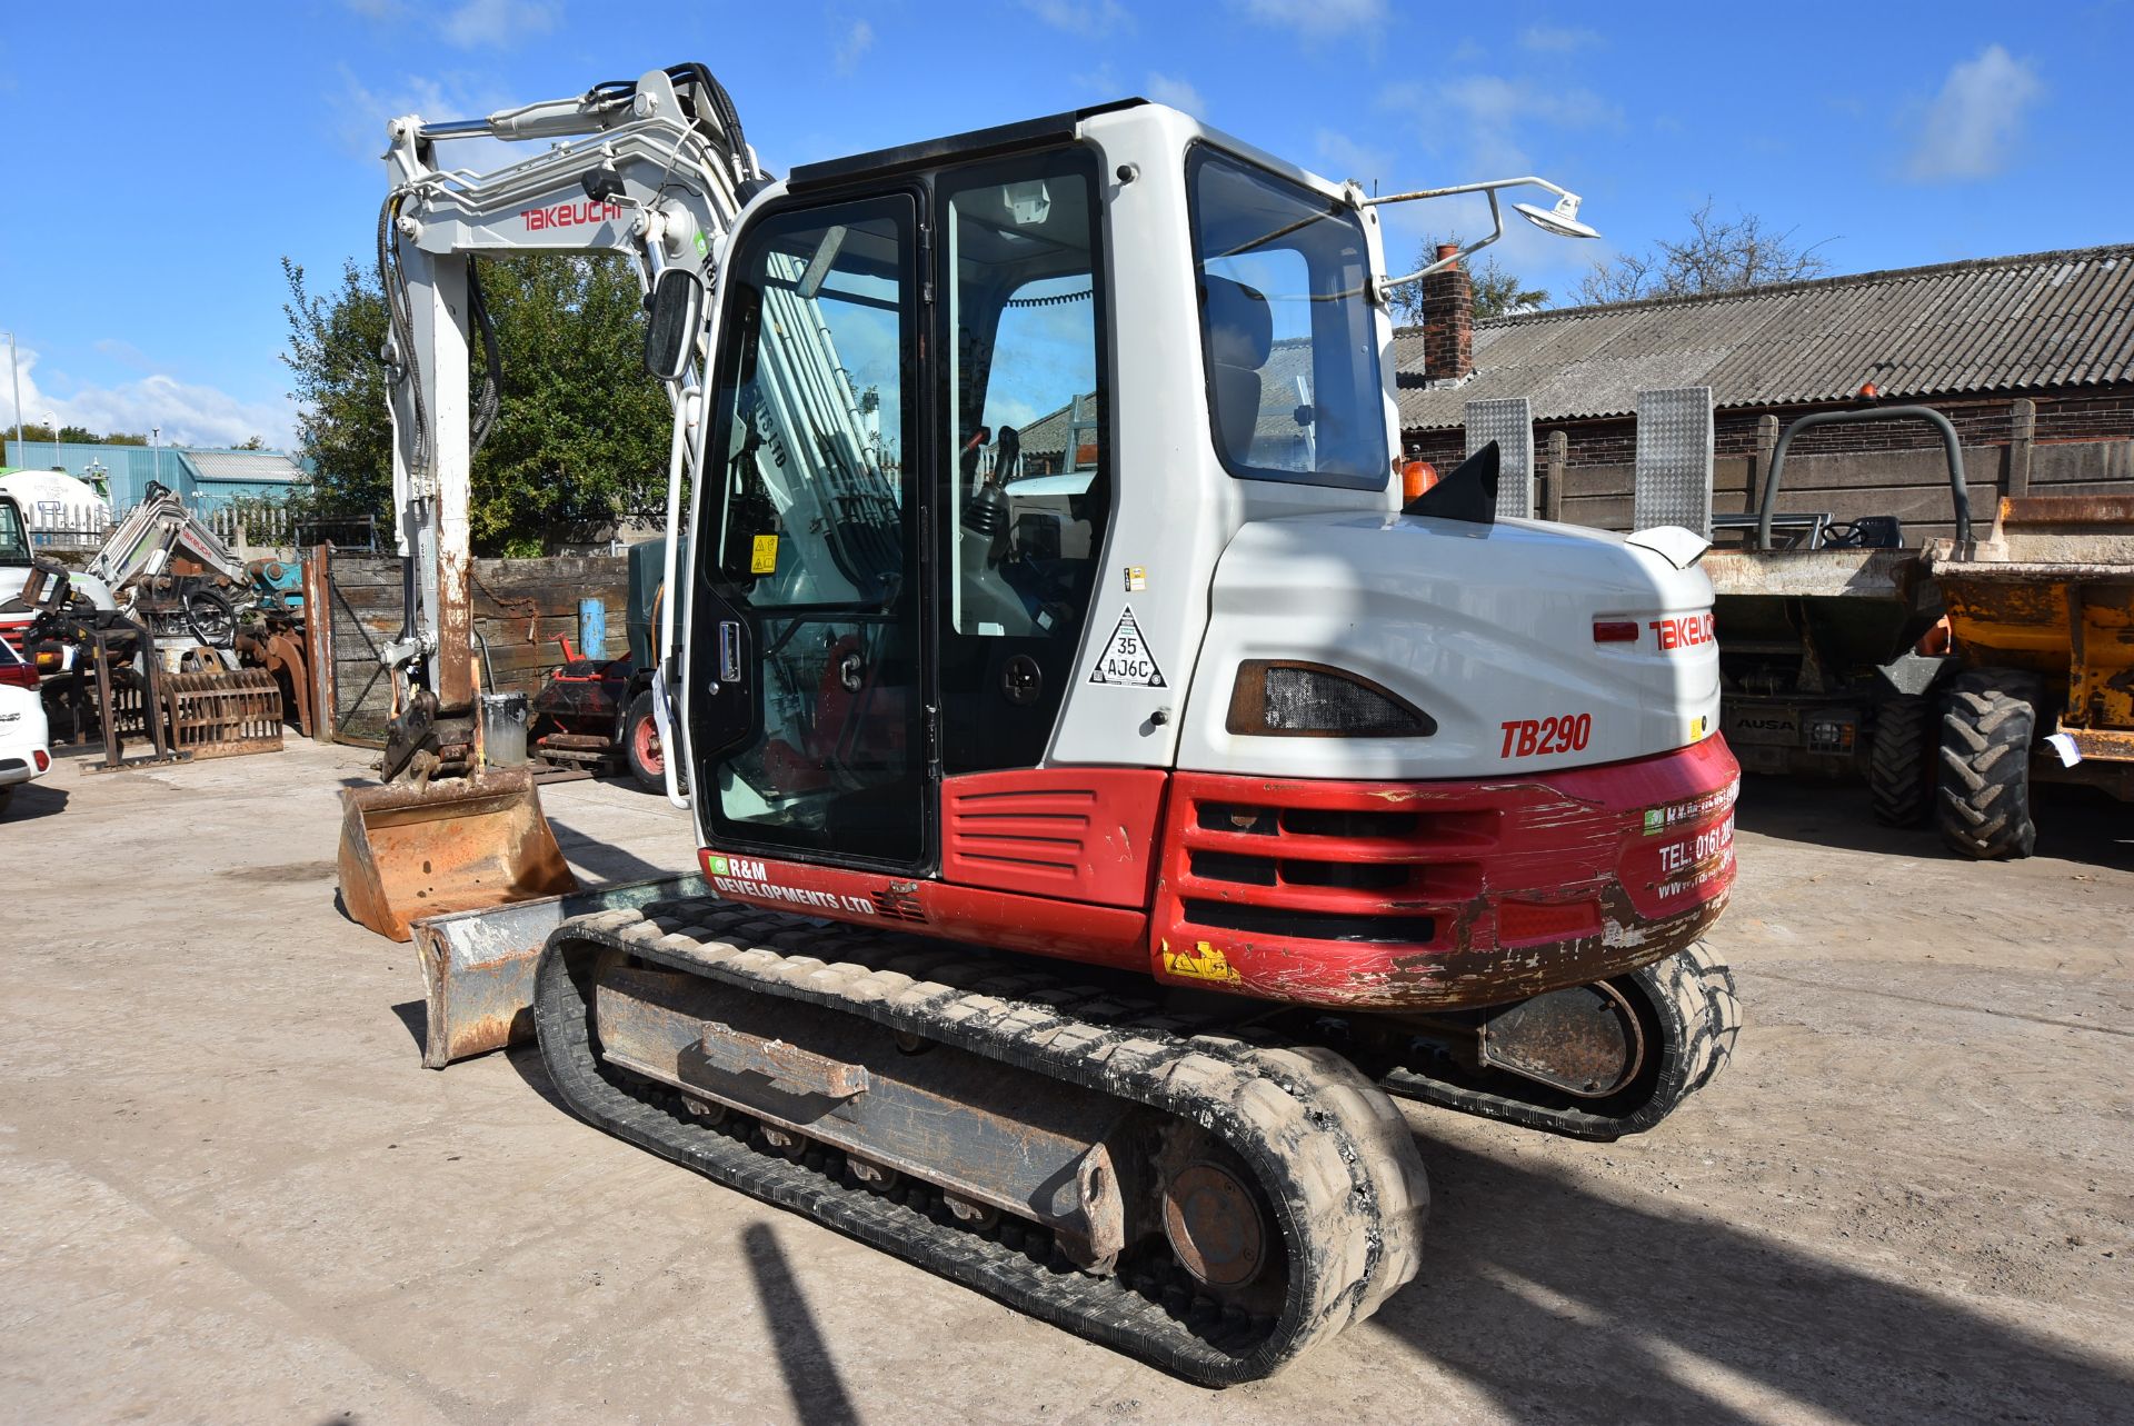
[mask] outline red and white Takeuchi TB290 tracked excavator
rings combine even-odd
[[[444,167],[467,137],[548,145]],[[1737,769],[1714,645],[1667,636],[1703,542],[1398,453],[1379,207],[1539,184],[1590,235],[1573,194],[1370,199],[1140,100],[773,179],[702,66],[397,120],[388,164],[412,786],[350,794],[359,914],[365,815],[514,796],[472,719],[474,258],[630,254],[674,401],[657,713],[717,894],[548,939],[589,1123],[1229,1383],[1415,1274],[1387,1093],[1605,1140],[1724,1063]]]

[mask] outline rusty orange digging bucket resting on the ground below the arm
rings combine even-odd
[[[574,890],[529,769],[341,792],[341,905],[378,935]]]

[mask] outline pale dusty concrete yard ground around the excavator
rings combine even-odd
[[[365,756],[90,775],[0,822],[13,1422],[2104,1422],[2134,1417],[2134,815],[1965,865],[1750,783],[1733,1067],[1573,1144],[1408,1106],[1421,1281],[1204,1392],[416,1057],[335,912]],[[691,860],[617,783],[572,860]]]

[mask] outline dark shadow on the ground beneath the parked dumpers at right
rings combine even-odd
[[[2096,788],[2057,783],[2036,783],[2032,805],[2038,856],[2134,869],[2134,807]],[[1882,826],[1869,811],[1867,790],[1846,783],[1743,777],[1735,826],[1816,847],[1957,860],[1933,826]]]

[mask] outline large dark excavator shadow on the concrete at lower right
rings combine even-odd
[[[1605,1153],[1596,1148],[1596,1153]],[[1524,1420],[2125,1420],[2134,1375],[1982,1311],[1423,1142],[1423,1274],[1376,1326]]]

